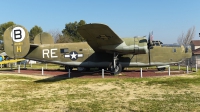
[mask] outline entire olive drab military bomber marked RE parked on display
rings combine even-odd
[[[105,24],[86,24],[78,27],[86,42],[56,43],[48,33],[40,33],[29,42],[28,31],[21,25],[9,27],[4,32],[4,49],[11,58],[26,58],[64,65],[79,71],[90,68],[109,69],[120,73],[124,67],[157,66],[165,69],[191,57],[191,50],[179,45],[165,45],[149,38],[119,38]]]

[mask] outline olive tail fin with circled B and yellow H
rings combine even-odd
[[[23,26],[14,25],[7,28],[3,40],[4,50],[10,58],[23,58],[29,52],[29,33]]]

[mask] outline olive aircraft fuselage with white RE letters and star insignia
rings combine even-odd
[[[118,62],[122,67],[128,66],[159,66],[178,63],[189,54],[184,47],[154,46],[147,54],[119,55]],[[43,62],[57,63],[73,67],[108,67],[113,55],[95,52],[87,42],[43,44],[30,48],[25,57]]]

